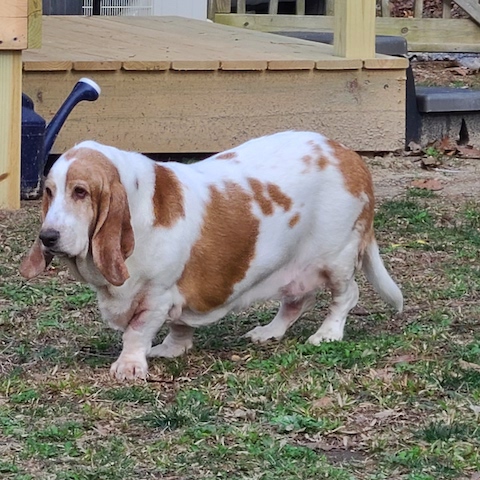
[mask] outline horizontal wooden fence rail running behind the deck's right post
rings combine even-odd
[[[263,32],[332,32],[334,19],[323,15],[217,15],[215,21]],[[404,37],[410,51],[480,53],[480,28],[467,19],[377,17],[376,34]]]

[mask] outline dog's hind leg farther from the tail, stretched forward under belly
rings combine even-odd
[[[315,303],[315,292],[311,292],[296,300],[282,300],[282,305],[275,318],[268,324],[255,327],[245,334],[254,343],[264,343],[270,339],[280,340],[287,329],[293,325],[300,316],[310,310]]]

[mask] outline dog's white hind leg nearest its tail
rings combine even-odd
[[[342,340],[343,328],[348,312],[358,302],[358,285],[352,276],[348,280],[337,280],[331,286],[332,303],[321,327],[308,340],[320,345],[324,341]]]

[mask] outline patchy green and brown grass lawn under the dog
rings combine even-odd
[[[38,212],[0,212],[0,478],[480,478],[480,203],[410,190],[379,204],[403,314],[359,275],[343,342],[304,343],[322,294],[284,340],[252,345],[267,304],[136,383],[110,379],[121,339],[88,287],[59,264],[19,277]]]

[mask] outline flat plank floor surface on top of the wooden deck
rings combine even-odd
[[[112,39],[120,37],[128,41],[115,46]],[[49,66],[54,70],[117,70],[118,62],[125,70],[163,70],[174,61],[190,62],[181,67],[189,70],[195,65],[200,70],[215,66],[261,70],[269,61],[291,62],[289,68],[297,65],[299,69],[307,63],[313,68],[316,62],[346,62],[345,68],[351,68],[345,59],[332,56],[331,45],[174,17],[47,16],[44,38],[42,49],[25,53],[25,70],[47,70]],[[75,65],[69,66],[68,61]],[[317,68],[328,67],[317,64]],[[335,65],[338,68],[340,64]]]

